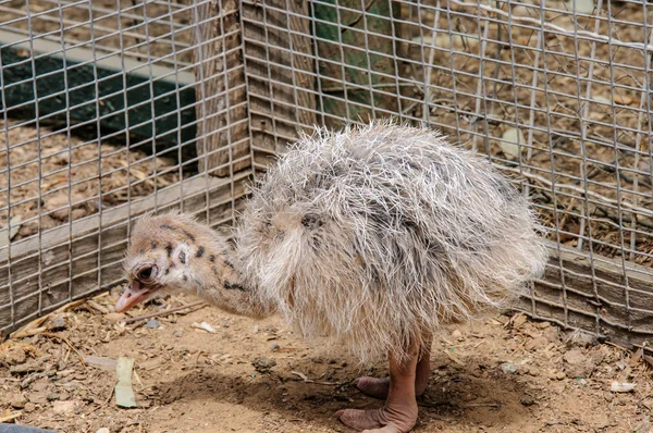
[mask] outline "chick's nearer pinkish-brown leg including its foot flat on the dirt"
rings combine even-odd
[[[406,433],[412,429],[417,421],[415,382],[419,350],[415,348],[408,354],[402,361],[390,357],[390,383],[383,408],[338,410],[335,416],[343,424],[364,433]]]

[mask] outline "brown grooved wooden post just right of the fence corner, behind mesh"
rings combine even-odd
[[[282,154],[316,125],[310,2],[242,2],[252,144]],[[258,159],[257,151],[252,151]]]

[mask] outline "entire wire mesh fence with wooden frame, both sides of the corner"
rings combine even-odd
[[[532,196],[552,260],[516,308],[627,345],[653,335],[652,5],[0,8],[11,17],[0,24],[1,329],[120,281],[139,212],[182,203],[230,223],[246,182],[299,129],[394,117],[486,154]]]

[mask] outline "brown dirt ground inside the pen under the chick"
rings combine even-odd
[[[76,302],[36,323],[37,335],[0,345],[0,420],[58,432],[347,432],[333,419],[337,409],[381,405],[352,381],[386,374],[382,361],[361,367],[336,347],[311,347],[280,318],[254,321],[206,306],[125,325],[112,312],[119,292]],[[162,299],[132,316],[193,301]],[[215,333],[194,327],[201,322]],[[444,329],[433,354],[415,432],[652,429],[641,354],[521,314]],[[115,404],[119,357],[135,360],[134,409]],[[612,392],[613,382],[634,389]]]

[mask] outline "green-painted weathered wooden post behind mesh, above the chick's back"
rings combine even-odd
[[[324,116],[323,123],[337,128],[346,120],[367,122],[397,113],[395,58],[403,47],[395,42],[403,30],[394,16],[399,16],[399,4],[392,0],[328,0],[313,8],[320,60],[318,107],[336,116]]]

